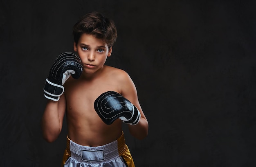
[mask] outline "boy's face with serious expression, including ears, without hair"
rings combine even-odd
[[[83,33],[78,43],[74,42],[74,51],[82,61],[83,71],[92,74],[103,67],[107,57],[111,55],[112,47],[108,48],[102,40]]]

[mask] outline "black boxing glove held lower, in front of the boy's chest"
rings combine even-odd
[[[136,125],[140,120],[137,107],[114,91],[101,94],[94,102],[94,109],[107,125],[112,124],[118,118],[130,125]]]

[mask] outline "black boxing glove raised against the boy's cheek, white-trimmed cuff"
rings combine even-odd
[[[72,52],[65,52],[59,55],[50,69],[49,76],[45,82],[44,93],[47,99],[58,101],[64,92],[63,84],[70,75],[78,79],[83,68],[81,59]]]

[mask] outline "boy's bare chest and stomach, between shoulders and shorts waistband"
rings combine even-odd
[[[120,136],[121,121],[106,125],[94,110],[94,101],[109,90],[118,91],[115,83],[74,82],[65,86],[68,135],[72,140],[83,145],[99,145]]]

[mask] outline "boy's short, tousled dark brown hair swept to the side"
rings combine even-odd
[[[81,17],[73,26],[74,42],[77,44],[83,33],[103,40],[110,48],[117,39],[115,23],[99,12],[90,12]]]

